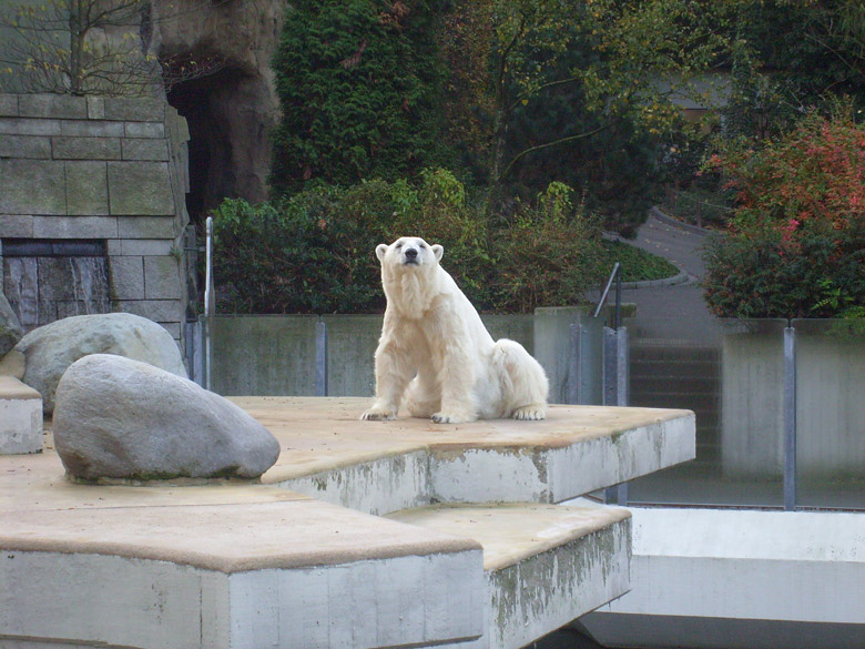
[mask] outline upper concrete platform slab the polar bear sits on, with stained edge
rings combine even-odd
[[[550,406],[542,422],[358,422],[367,398],[234,397],[283,454],[262,481],[370,514],[560,503],[694,457],[690,410]]]

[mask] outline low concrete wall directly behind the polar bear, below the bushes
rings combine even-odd
[[[570,327],[584,323],[600,332],[602,322],[584,307],[541,308],[535,315],[485,315],[493,338],[522,344],[550,378],[550,402],[568,403],[573,393]],[[316,355],[318,323],[326,331],[326,357]],[[375,393],[374,353],[380,315],[217,315],[212,331],[212,389],[223,395],[370,396]],[[597,338],[597,341],[596,341]],[[600,404],[601,336],[584,336],[583,403]],[[597,362],[597,363],[596,363]],[[317,364],[326,367],[326,389],[316,384]],[[596,368],[597,365],[597,368]],[[597,393],[597,395],[596,395]],[[597,400],[594,399],[597,396]]]

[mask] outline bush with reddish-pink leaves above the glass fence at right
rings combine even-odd
[[[714,164],[739,207],[708,250],[705,298],[726,317],[835,317],[865,304],[865,128],[808,115],[762,151]]]

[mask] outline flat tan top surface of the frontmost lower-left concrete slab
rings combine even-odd
[[[142,487],[91,490],[103,489]],[[258,501],[231,505],[126,508],[123,498],[103,495],[101,507],[4,515],[0,548],[170,561],[225,575],[480,549],[470,539],[428,533],[308,497],[268,500],[262,494]],[[99,533],[82,535],[82,529]]]

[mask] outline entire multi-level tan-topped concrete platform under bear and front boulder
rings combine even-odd
[[[236,400],[283,447],[264,484],[72,484],[50,430],[44,453],[0,457],[0,647],[516,647],[627,590],[621,513],[507,505],[487,525],[439,525],[439,508],[415,525],[369,511],[550,500],[693,454],[682,410],[439,426],[359,422],[367,399]]]

